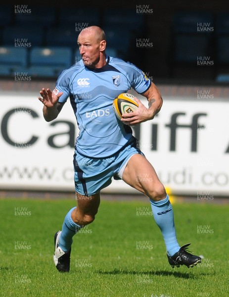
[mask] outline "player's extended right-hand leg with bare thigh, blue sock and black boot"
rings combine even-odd
[[[185,251],[187,246],[180,247],[178,244],[169,196],[149,161],[141,154],[133,155],[127,163],[122,179],[150,198],[153,216],[162,232],[171,266],[179,267],[184,264],[192,267],[199,263],[200,257],[192,256]],[[183,256],[186,258],[183,262],[179,262],[181,252],[184,252]]]

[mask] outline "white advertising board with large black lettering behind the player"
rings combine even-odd
[[[139,148],[173,194],[227,197],[229,88],[159,88],[164,99],[161,112],[133,129]],[[0,94],[0,188],[72,192],[75,116],[68,102],[59,117],[47,123],[37,99],[39,90]],[[137,179],[150,181],[144,175]],[[137,193],[123,181],[113,181],[103,191]]]

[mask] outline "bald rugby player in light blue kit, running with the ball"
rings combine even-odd
[[[106,55],[103,30],[90,26],[78,36],[82,60],[59,75],[55,89],[43,88],[38,98],[46,121],[54,120],[70,99],[79,127],[74,154],[77,206],[67,213],[62,230],[54,236],[53,260],[60,272],[69,272],[73,236],[95,219],[100,191],[111,179],[122,179],[145,194],[159,226],[169,264],[193,267],[201,258],[187,251],[190,244],[178,244],[169,196],[153,166],[136,146],[132,125],[149,121],[160,111],[160,91],[134,64]],[[148,100],[118,120],[112,110],[116,96],[133,88]],[[148,179],[137,179],[147,176]]]

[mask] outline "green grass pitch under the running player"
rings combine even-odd
[[[52,260],[53,236],[74,203],[0,200],[0,296],[229,296],[229,205],[173,205],[180,245],[191,242],[204,258],[172,269],[149,202],[101,201],[95,221],[74,237],[71,270],[62,274]]]

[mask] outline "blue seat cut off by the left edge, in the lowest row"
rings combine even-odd
[[[12,74],[16,68],[24,67],[28,62],[25,48],[0,47],[0,74]]]

